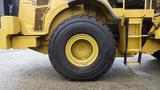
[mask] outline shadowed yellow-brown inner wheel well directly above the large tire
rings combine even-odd
[[[117,24],[118,20],[111,19],[108,15],[106,15],[104,9],[101,9],[99,6],[94,5],[76,5],[64,9],[61,11],[56,17],[53,19],[52,23],[50,24],[49,34],[46,37],[46,40],[49,40],[51,37],[52,32],[56,29],[56,27],[63,22],[65,19],[68,19],[73,16],[94,16],[101,20],[105,24]],[[118,31],[118,30],[117,30]],[[114,34],[114,33],[113,33]]]

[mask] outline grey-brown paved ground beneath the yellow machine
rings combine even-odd
[[[128,67],[118,58],[100,80],[73,82],[59,76],[46,55],[1,50],[0,90],[160,90],[160,61],[143,55],[142,63]]]

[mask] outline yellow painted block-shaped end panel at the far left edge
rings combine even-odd
[[[3,16],[0,17],[0,48],[11,48],[11,35],[18,34],[20,32],[20,24],[17,17]]]

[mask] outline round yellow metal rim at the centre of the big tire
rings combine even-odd
[[[86,67],[95,62],[99,48],[96,40],[90,35],[77,34],[67,41],[65,53],[73,65]]]

